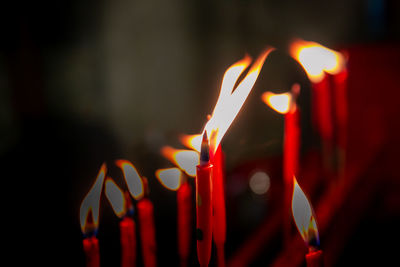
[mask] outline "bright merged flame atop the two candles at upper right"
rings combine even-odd
[[[290,45],[290,54],[315,83],[324,78],[324,71],[337,74],[344,70],[346,65],[343,54],[315,42],[296,40]]]

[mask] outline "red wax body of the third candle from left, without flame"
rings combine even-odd
[[[146,267],[154,267],[157,265],[157,260],[153,203],[148,198],[143,198],[137,203],[136,208],[139,215],[143,263]]]

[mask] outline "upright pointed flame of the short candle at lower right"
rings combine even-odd
[[[292,213],[303,240],[308,245],[319,244],[314,211],[295,177],[293,177]]]

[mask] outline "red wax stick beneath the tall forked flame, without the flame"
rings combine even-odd
[[[226,211],[225,211],[225,190],[224,190],[224,170],[225,157],[218,146],[215,155],[211,159],[213,164],[213,238],[217,245],[218,266],[225,266],[224,244],[226,240]]]

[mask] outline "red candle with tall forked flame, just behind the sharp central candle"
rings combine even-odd
[[[251,58],[246,56],[242,60],[230,66],[222,79],[221,90],[214,111],[206,123],[201,136],[209,133],[210,161],[213,164],[213,238],[217,247],[218,266],[225,265],[224,245],[226,240],[226,211],[225,211],[225,192],[224,192],[224,167],[223,151],[220,148],[220,142],[229,129],[233,120],[239,113],[244,102],[253,88],[265,59],[272,51],[272,48],[266,49],[256,59],[250,67],[247,75],[235,87],[240,75],[249,67]],[[183,138],[186,139],[186,138]],[[200,151],[199,138],[191,138],[190,146]]]

